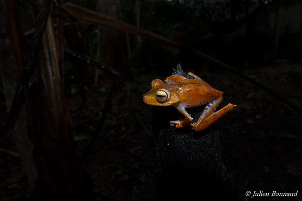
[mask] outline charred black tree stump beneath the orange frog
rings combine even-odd
[[[203,108],[193,108],[195,121]],[[157,200],[236,200],[233,173],[223,164],[218,131],[213,126],[199,132],[170,126],[169,121],[179,119],[174,107],[153,107],[152,114]]]

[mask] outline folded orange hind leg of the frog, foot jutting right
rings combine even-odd
[[[236,105],[228,104],[224,108],[220,109],[219,111],[215,112],[216,108],[218,107],[219,103],[222,100],[222,95],[219,98],[212,100],[212,102],[208,103],[202,112],[201,116],[199,117],[198,121],[194,124],[191,124],[191,127],[195,131],[201,131],[215,121],[217,121],[220,117],[222,117],[225,113],[231,111]]]

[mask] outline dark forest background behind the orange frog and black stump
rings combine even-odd
[[[142,94],[178,64],[223,91],[220,107],[237,105],[213,128],[238,200],[301,193],[301,11],[298,0],[1,1],[0,200],[155,200]]]

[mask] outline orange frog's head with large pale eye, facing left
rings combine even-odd
[[[142,95],[144,103],[152,106],[171,106],[179,102],[177,94],[160,79],[152,81],[151,89]]]

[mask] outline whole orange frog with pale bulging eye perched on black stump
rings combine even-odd
[[[228,104],[215,112],[222,100],[222,91],[219,91],[192,72],[189,76],[171,75],[163,82],[155,79],[151,89],[142,95],[144,103],[152,106],[174,106],[184,119],[170,121],[176,128],[190,127],[198,132],[208,128],[223,115],[233,110],[236,105]],[[189,77],[189,78],[188,78]],[[186,108],[205,105],[197,122],[188,114]]]

